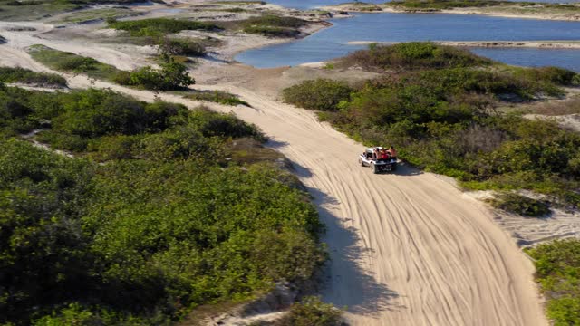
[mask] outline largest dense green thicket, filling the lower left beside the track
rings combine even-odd
[[[163,325],[324,262],[296,178],[234,155],[256,127],[106,90],[0,98],[0,323]],[[76,158],[14,138],[36,128]]]

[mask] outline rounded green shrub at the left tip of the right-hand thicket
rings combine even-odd
[[[338,104],[348,101],[351,89],[344,82],[327,79],[306,81],[283,91],[284,100],[308,110],[338,110]]]

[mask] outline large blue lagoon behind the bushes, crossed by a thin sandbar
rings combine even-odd
[[[239,53],[236,60],[259,68],[269,68],[297,65],[304,62],[326,61],[366,47],[366,45],[351,45],[349,44],[351,41],[544,41],[580,39],[580,22],[512,19],[483,15],[356,14],[353,18],[334,19],[331,22],[333,23],[332,27],[302,40]],[[510,64],[527,66],[557,65],[580,71],[580,51],[578,50],[474,48],[472,51]]]

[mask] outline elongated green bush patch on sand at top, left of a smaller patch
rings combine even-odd
[[[150,18],[131,21],[110,20],[108,24],[110,28],[127,31],[131,36],[163,36],[176,34],[184,30],[219,30],[216,24],[169,18]]]

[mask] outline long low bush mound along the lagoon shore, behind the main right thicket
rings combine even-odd
[[[467,50],[438,46],[433,43],[411,42],[395,45],[371,44],[369,50],[349,54],[343,65],[358,65],[371,71],[389,69],[458,68],[489,65],[489,59]]]

